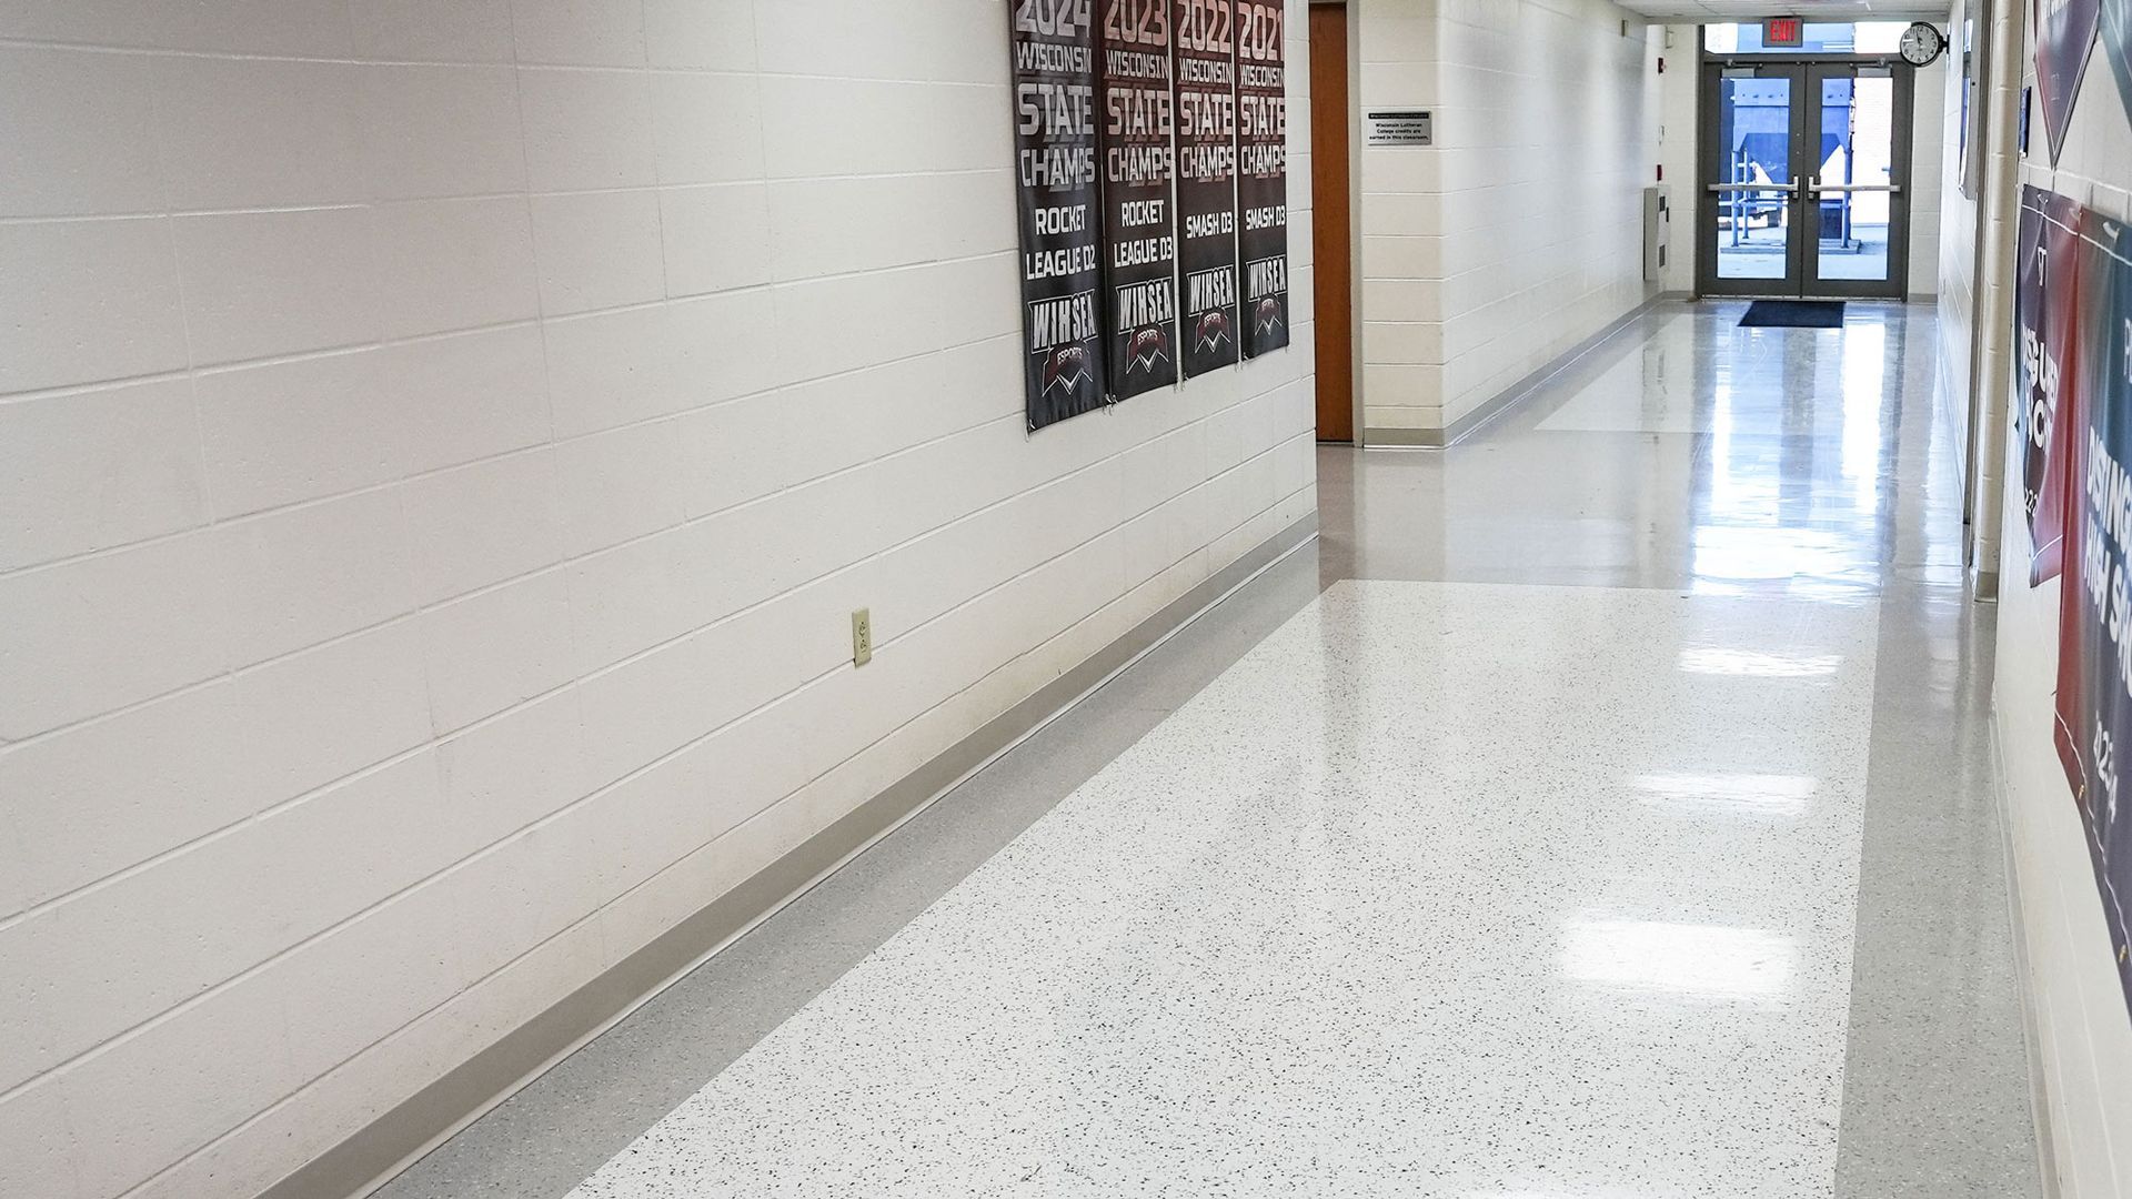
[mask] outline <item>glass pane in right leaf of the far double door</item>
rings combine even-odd
[[[1821,81],[1821,145],[1812,209],[1823,279],[1887,279],[1895,181],[1895,79]],[[1866,188],[1866,190],[1844,190]]]

